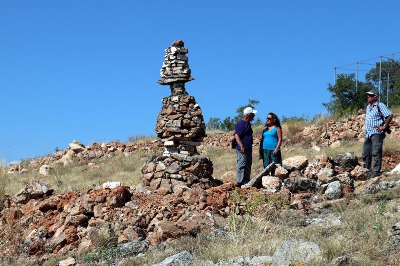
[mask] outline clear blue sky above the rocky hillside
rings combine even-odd
[[[325,112],[333,67],[400,51],[397,1],[0,1],[0,158],[154,134],[182,39],[210,117]],[[361,73],[364,76],[364,73]]]

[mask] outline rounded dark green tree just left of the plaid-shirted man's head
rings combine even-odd
[[[355,86],[354,74],[340,74],[336,78],[336,84],[328,83],[327,90],[332,94],[331,101],[323,103],[331,114],[347,116],[366,106],[365,92],[372,90],[371,82],[360,82]]]

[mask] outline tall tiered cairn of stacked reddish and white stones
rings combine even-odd
[[[185,90],[185,83],[194,80],[186,56],[188,49],[182,40],[175,40],[165,52],[157,82],[169,85],[171,95],[162,100],[155,127],[164,153],[148,157],[141,186],[161,194],[182,193],[188,187],[210,188],[214,184],[212,162],[196,149],[207,136],[206,125],[200,106]]]

